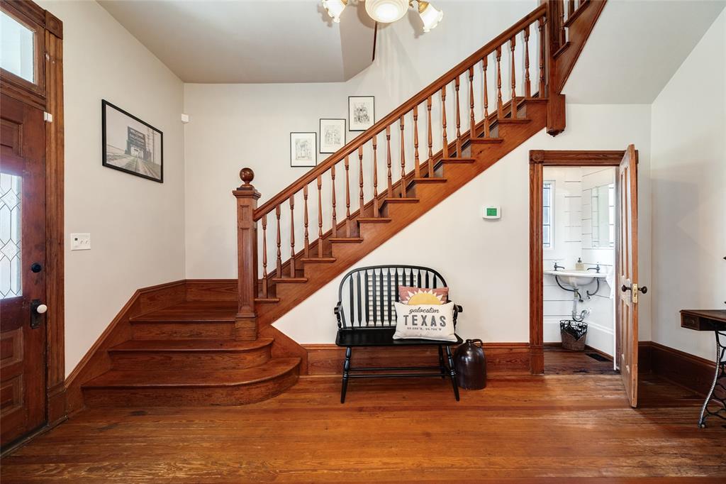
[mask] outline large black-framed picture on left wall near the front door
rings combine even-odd
[[[101,101],[102,164],[137,177],[164,182],[164,134],[108,102]]]

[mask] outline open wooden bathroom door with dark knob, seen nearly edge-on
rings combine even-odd
[[[618,172],[618,246],[616,291],[616,328],[618,344],[616,365],[633,407],[637,406],[637,302],[648,289],[638,286],[637,278],[637,153],[629,145]]]

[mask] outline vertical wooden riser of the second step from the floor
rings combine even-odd
[[[113,368],[124,370],[239,370],[253,368],[270,360],[270,346],[245,352],[115,352],[110,351]]]

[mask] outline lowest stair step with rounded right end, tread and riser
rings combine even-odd
[[[235,371],[111,370],[83,385],[89,407],[233,406],[267,400],[298,381],[300,358]]]

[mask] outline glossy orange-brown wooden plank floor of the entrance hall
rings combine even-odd
[[[1,462],[9,483],[726,482],[726,428],[696,428],[701,398],[657,379],[627,406],[619,375],[504,376],[454,401],[440,379],[305,377],[240,407],[83,411]]]

